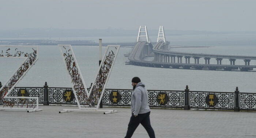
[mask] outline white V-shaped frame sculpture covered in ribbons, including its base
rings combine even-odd
[[[101,102],[106,84],[110,73],[116,61],[120,45],[108,45],[105,56],[99,65],[99,69],[90,92],[87,92],[82,74],[80,72],[78,63],[76,61],[71,45],[58,45],[62,53],[63,61],[71,78],[71,84],[78,109],[63,109],[59,113],[66,113],[70,111],[101,111],[104,114],[115,113],[116,110],[100,110],[99,104]]]

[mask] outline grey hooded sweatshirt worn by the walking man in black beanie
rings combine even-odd
[[[132,93],[131,108],[133,115],[144,114],[150,111],[148,106],[148,94],[145,85],[139,82]]]

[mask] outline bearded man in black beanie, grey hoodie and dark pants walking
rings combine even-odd
[[[142,126],[147,130],[147,133],[150,138],[155,138],[155,132],[150,124],[150,109],[148,106],[148,94],[145,89],[145,85],[140,82],[139,77],[132,78],[132,116],[128,124],[128,130],[125,138],[131,138],[135,129],[141,123]]]

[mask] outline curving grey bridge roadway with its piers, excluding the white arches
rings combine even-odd
[[[169,50],[163,50],[165,43],[158,42],[153,47],[154,60],[147,61],[144,60],[145,55],[143,55],[143,49],[147,47],[146,41],[139,41],[136,43],[132,49],[131,54],[128,59],[130,64],[139,66],[150,66],[159,68],[176,68],[176,69],[208,69],[208,70],[238,70],[248,71],[253,70],[256,66],[249,65],[251,60],[256,60],[256,57],[250,56],[230,56],[230,55],[218,55],[218,54],[196,54],[196,53],[181,53],[172,52]],[[176,62],[176,57],[177,61]],[[182,63],[182,57],[185,58],[185,63]],[[195,59],[195,63],[190,63],[190,58]],[[199,58],[204,57],[205,64],[199,64]],[[210,64],[210,58],[216,58],[217,64]],[[222,59],[228,58],[230,60],[230,65],[223,65]],[[236,59],[243,59],[245,65],[235,65]]]

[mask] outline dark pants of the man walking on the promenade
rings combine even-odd
[[[153,128],[151,127],[149,114],[150,114],[150,112],[145,113],[145,114],[138,114],[138,116],[136,116],[136,117],[132,114],[130,122],[128,124],[128,130],[127,130],[125,138],[131,138],[133,132],[139,126],[140,123],[147,130],[149,137],[155,138],[155,132],[154,132]]]

